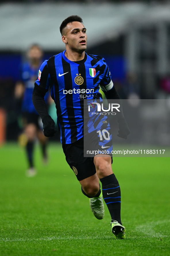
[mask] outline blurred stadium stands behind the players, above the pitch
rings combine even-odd
[[[63,51],[59,26],[74,13],[87,27],[87,53],[106,59],[121,98],[169,97],[167,1],[1,1],[0,107],[6,112],[7,140],[18,136],[13,95],[25,51],[33,43],[42,46],[43,59]]]

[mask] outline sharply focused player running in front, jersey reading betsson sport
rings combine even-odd
[[[85,53],[87,34],[82,19],[77,15],[66,18],[60,32],[66,50],[41,65],[33,91],[33,104],[42,118],[45,136],[54,136],[54,120],[49,116],[44,101],[45,93],[51,88],[66,161],[79,180],[82,193],[90,198],[94,216],[98,219],[104,217],[104,197],[114,237],[123,239],[125,227],[121,223],[121,190],[112,171],[112,158],[109,155],[83,156],[83,98],[100,99],[100,86],[107,99],[120,98],[105,60],[101,56]],[[117,121],[119,137],[127,139],[130,131],[124,116]]]

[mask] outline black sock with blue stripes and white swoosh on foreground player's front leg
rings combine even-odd
[[[121,225],[121,190],[114,173],[100,179],[102,182],[103,199],[108,207],[112,221]]]

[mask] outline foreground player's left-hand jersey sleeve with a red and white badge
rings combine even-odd
[[[49,75],[49,70],[47,67],[47,61],[44,61],[43,64],[41,65],[39,72],[38,72],[38,77],[35,83],[39,86],[42,87],[43,89],[46,89],[48,91],[49,86],[51,85],[51,78]]]

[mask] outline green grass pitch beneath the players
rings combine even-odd
[[[110,216],[97,220],[81,193],[60,144],[48,147],[49,164],[35,148],[37,176],[25,176],[24,149],[0,147],[0,255],[170,255],[170,161],[113,158],[121,186],[126,239],[115,240]]]

